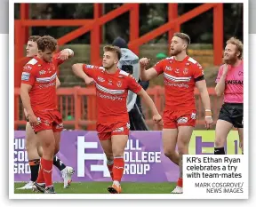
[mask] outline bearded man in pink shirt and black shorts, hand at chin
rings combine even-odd
[[[243,43],[231,37],[224,52],[224,65],[220,66],[215,91],[224,94],[224,104],[220,108],[215,130],[215,155],[225,155],[224,145],[229,131],[238,130],[239,146],[244,154],[244,61]]]

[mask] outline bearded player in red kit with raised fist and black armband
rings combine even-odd
[[[196,125],[194,88],[198,88],[205,108],[205,126],[212,124],[210,98],[201,65],[187,55],[190,38],[184,33],[175,33],[171,42],[171,57],[156,63],[146,70],[149,60],[140,59],[140,79],[148,81],[164,73],[165,107],[163,144],[164,155],[179,164],[180,176],[172,193],[180,194],[182,188],[182,155],[188,155],[188,145]],[[175,151],[178,145],[178,153]]]

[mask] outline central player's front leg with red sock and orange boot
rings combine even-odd
[[[120,194],[121,179],[124,173],[124,148],[128,141],[128,135],[112,135],[112,150],[114,155],[114,166],[113,166],[113,185],[108,187],[108,192],[111,194]]]

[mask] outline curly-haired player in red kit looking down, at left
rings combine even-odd
[[[57,41],[52,36],[43,36],[36,43],[38,54],[23,68],[20,97],[28,121],[43,148],[34,187],[45,194],[52,194],[55,193],[52,185],[53,156],[60,149],[60,131],[63,129],[62,117],[57,108],[57,66],[73,56],[73,52],[63,59],[59,55],[54,56]]]

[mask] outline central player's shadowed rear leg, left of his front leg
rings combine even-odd
[[[111,179],[113,180],[114,156],[113,156],[113,152],[112,152],[111,139],[100,140],[100,144],[101,144],[101,147],[103,148],[103,151],[107,157],[108,171],[111,176]]]

